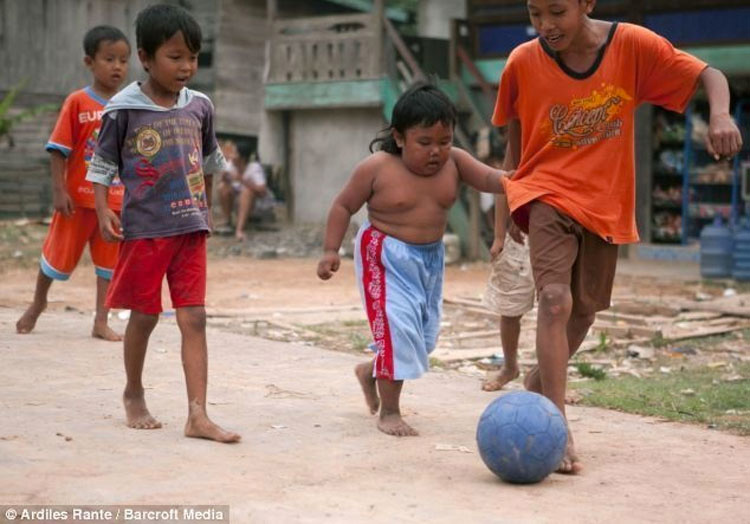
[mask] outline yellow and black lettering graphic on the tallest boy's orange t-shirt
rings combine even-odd
[[[577,149],[622,135],[623,113],[633,100],[624,89],[602,84],[586,98],[549,110],[550,141],[557,147]],[[629,109],[628,109],[629,111]]]

